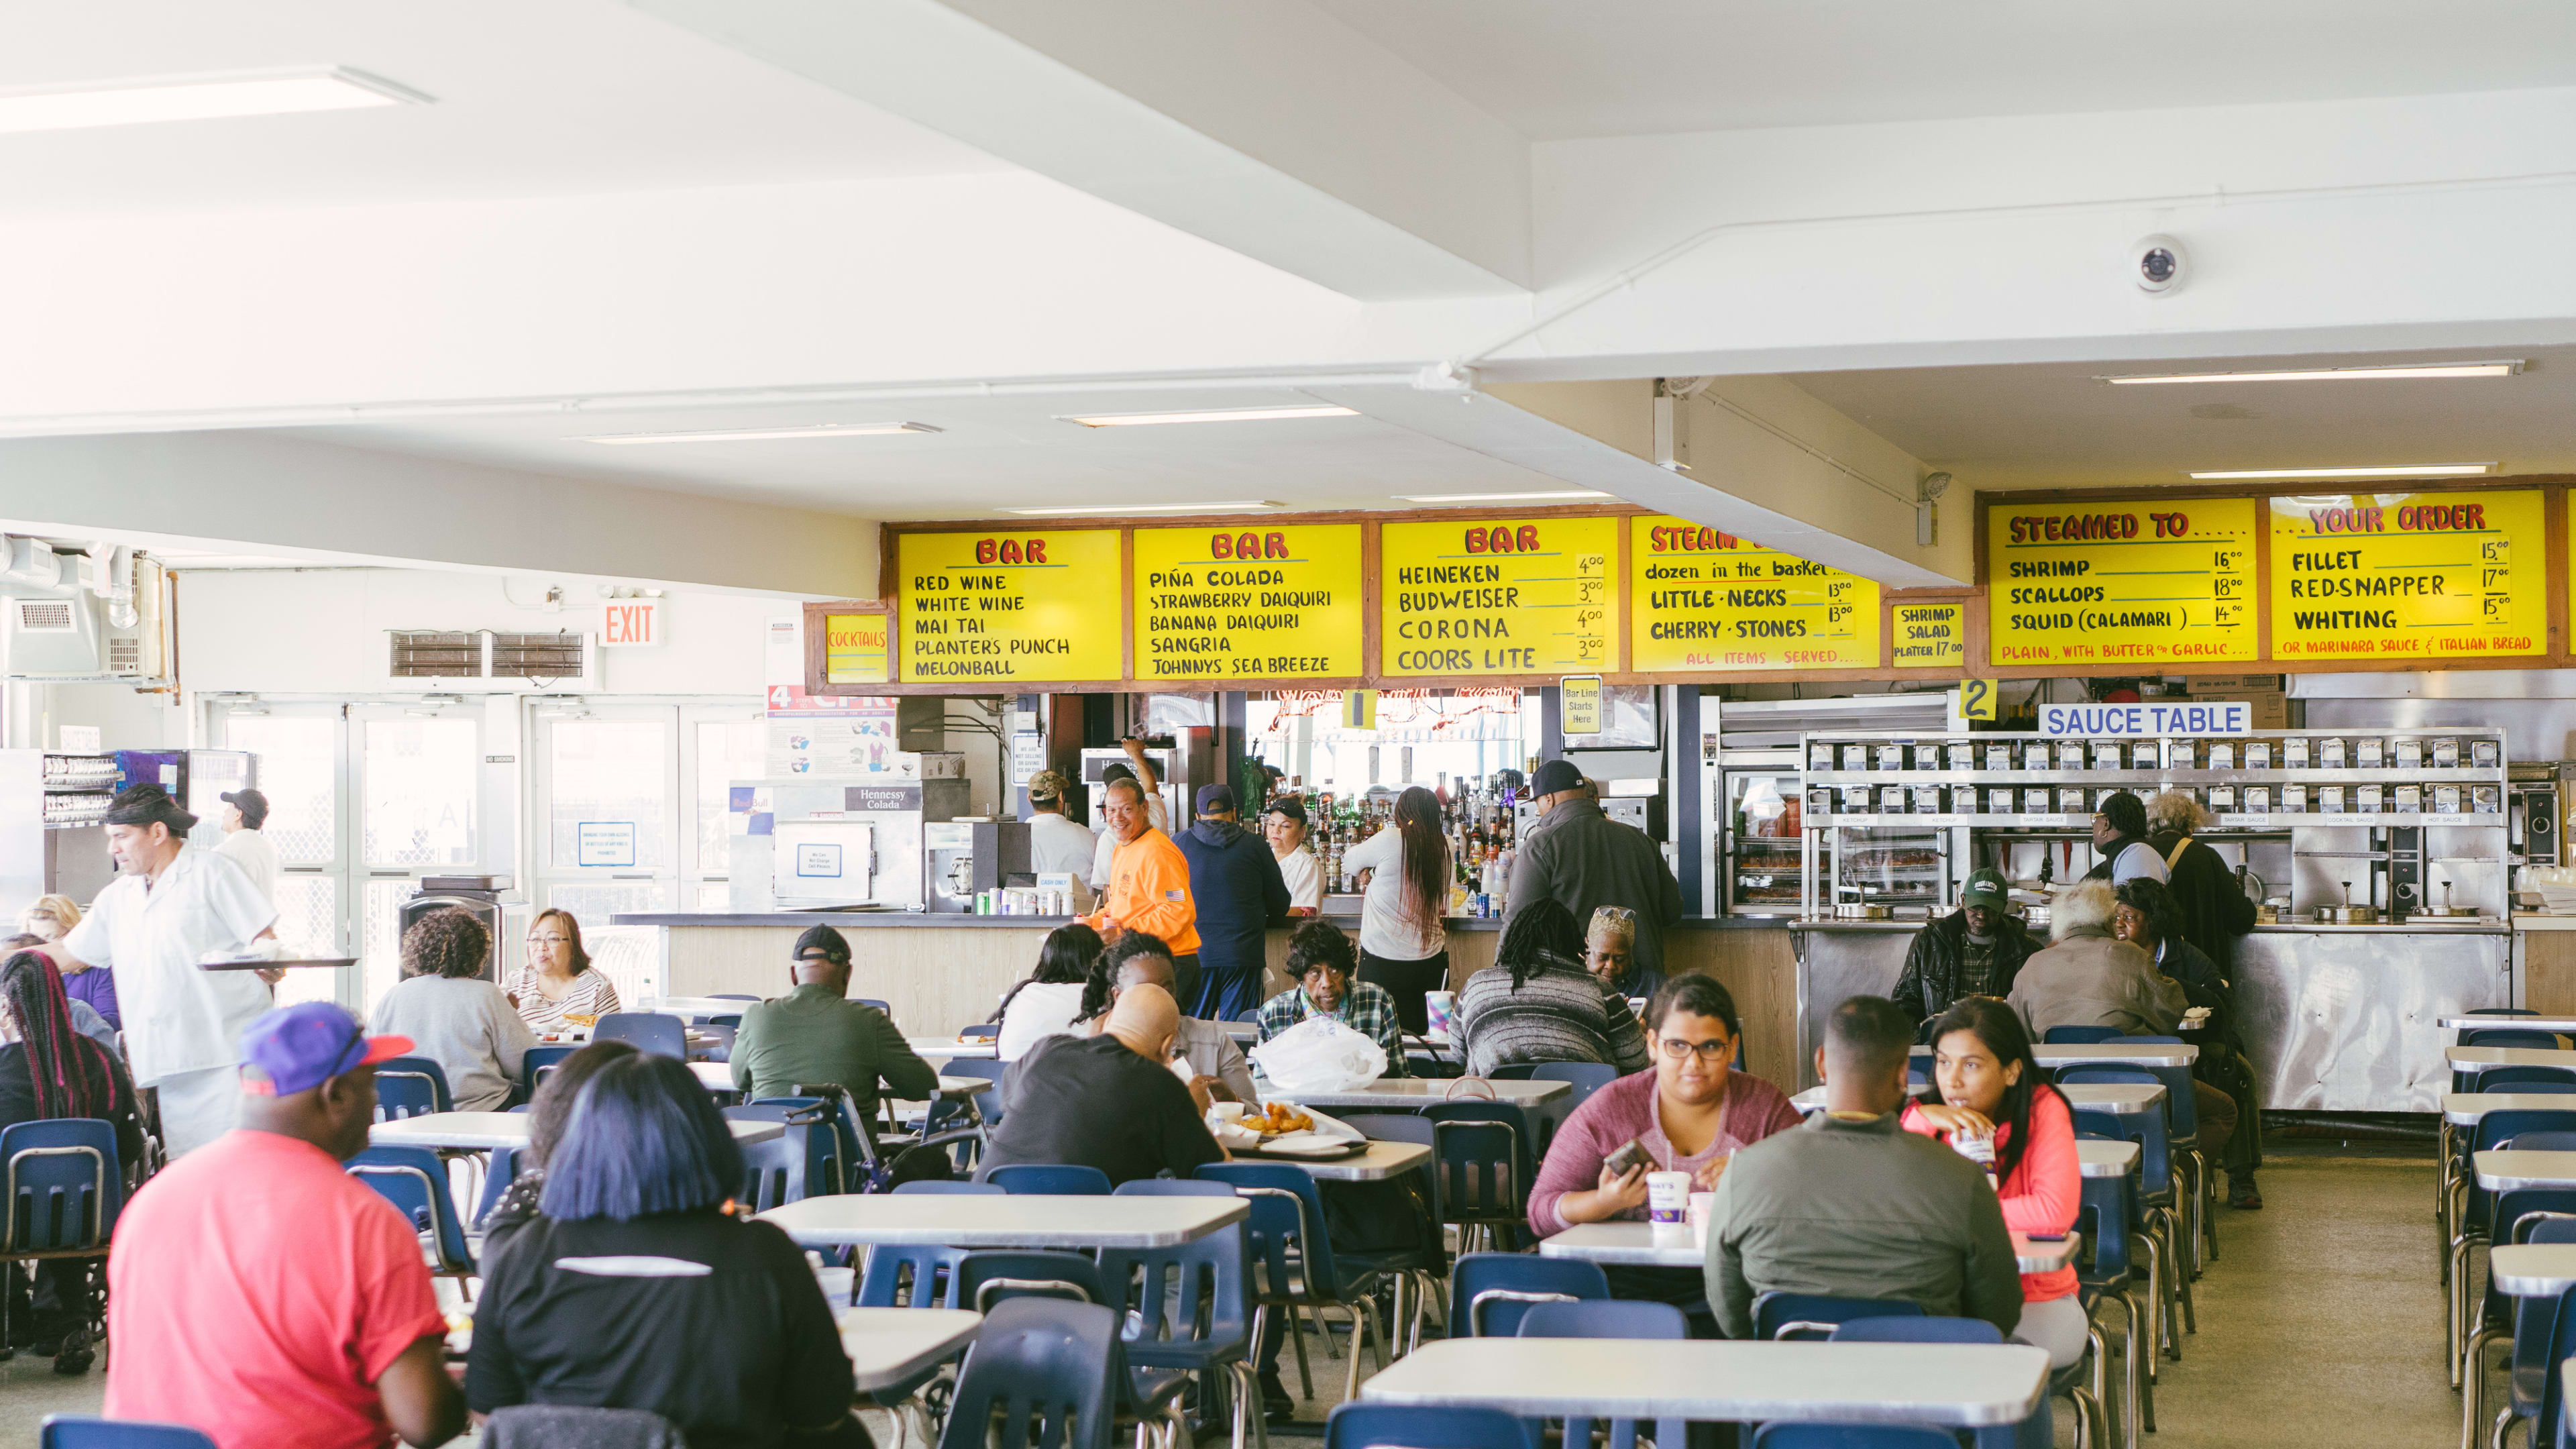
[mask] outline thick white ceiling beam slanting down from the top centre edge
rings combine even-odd
[[[1530,278],[1528,142],[1303,0],[629,5],[1345,297]]]

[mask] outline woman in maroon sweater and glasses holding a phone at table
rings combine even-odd
[[[1556,1129],[1530,1186],[1530,1227],[1556,1235],[1577,1222],[1643,1220],[1649,1171],[1692,1173],[1692,1191],[1713,1191],[1736,1147],[1798,1127],[1780,1088],[1728,1067],[1741,1034],[1736,998],[1716,977],[1667,980],[1646,1006],[1654,1067],[1600,1088]],[[1613,1173],[1607,1160],[1628,1142],[1646,1160]],[[1698,1269],[1607,1271],[1615,1297],[1708,1312]],[[1705,1328],[1716,1333],[1716,1323]]]

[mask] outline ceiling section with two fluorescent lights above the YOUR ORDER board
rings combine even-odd
[[[2519,376],[2110,387],[2102,374],[2524,358]],[[1971,487],[2187,485],[2195,469],[2499,462],[2576,472],[2576,348],[1955,366],[1790,382]]]

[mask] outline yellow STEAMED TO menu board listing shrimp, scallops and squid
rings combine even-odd
[[[2254,500],[1986,505],[1994,665],[2257,657]]]

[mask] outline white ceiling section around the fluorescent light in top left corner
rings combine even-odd
[[[0,90],[350,67],[430,106],[0,134],[0,214],[1005,170],[613,0],[0,0]]]

